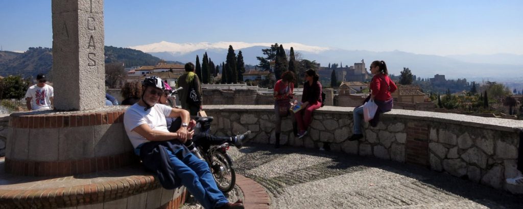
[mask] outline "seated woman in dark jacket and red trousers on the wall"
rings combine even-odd
[[[319,79],[320,76],[314,69],[305,71],[305,83],[303,83],[301,97],[303,108],[294,114],[299,128],[298,138],[302,138],[308,133],[307,129],[312,121],[312,111],[322,107],[322,84],[318,81]]]

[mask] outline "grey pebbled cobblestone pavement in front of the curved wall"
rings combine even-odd
[[[271,208],[523,208],[523,196],[426,168],[316,149],[230,149]]]

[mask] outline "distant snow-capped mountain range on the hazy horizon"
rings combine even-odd
[[[236,54],[242,51],[245,64],[258,64],[256,56],[263,56],[262,49],[270,48],[274,43],[217,42],[217,43],[171,43],[158,42],[146,45],[131,46],[164,60],[179,62],[195,62],[196,55],[201,57],[207,52],[214,63],[225,61],[229,45]],[[301,59],[307,59],[328,66],[338,63],[343,66],[365,61],[368,67],[373,60],[386,62],[389,72],[399,75],[403,67],[411,69],[412,73],[421,77],[434,77],[435,74],[446,75],[447,78],[463,77],[512,77],[523,71],[523,55],[491,54],[491,55],[428,55],[402,51],[373,52],[366,50],[345,50],[327,47],[315,47],[300,43],[280,43],[287,51],[290,47],[301,54]]]

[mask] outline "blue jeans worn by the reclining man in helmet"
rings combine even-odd
[[[169,150],[167,152],[176,175],[181,179],[181,184],[195,196],[203,207],[215,208],[229,202],[218,189],[206,161],[197,158],[192,153],[180,160]]]

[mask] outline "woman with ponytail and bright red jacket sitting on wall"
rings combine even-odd
[[[378,105],[376,116],[374,116],[374,124],[377,124],[378,115],[380,112],[388,112],[392,109],[391,93],[396,91],[397,86],[389,78],[389,71],[383,61],[374,61],[370,64],[370,72],[374,75],[370,82],[370,100],[374,100]],[[363,106],[354,109],[354,127],[353,135],[349,137],[349,141],[359,140],[363,137],[361,132],[361,118],[363,115]]]

